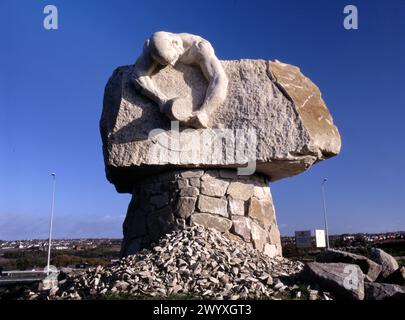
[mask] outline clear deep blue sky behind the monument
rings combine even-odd
[[[59,9],[59,30],[43,8]],[[354,4],[359,29],[343,28]],[[220,59],[278,59],[321,89],[341,154],[272,185],[282,234],[405,230],[405,1],[0,2],[0,239],[121,237],[129,195],[104,176],[98,121],[114,68],[154,31],[211,41]]]

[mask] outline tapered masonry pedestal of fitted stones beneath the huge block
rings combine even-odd
[[[121,254],[134,254],[173,230],[195,224],[237,236],[270,257],[282,255],[267,178],[200,169],[137,181]]]

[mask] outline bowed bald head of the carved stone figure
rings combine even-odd
[[[159,31],[150,38],[151,55],[162,65],[174,65],[183,54],[183,41],[173,33]]]

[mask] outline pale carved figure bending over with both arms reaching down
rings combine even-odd
[[[159,66],[174,66],[177,62],[197,65],[209,82],[204,101],[199,110],[184,97],[168,98],[153,82],[151,75]],[[133,81],[137,89],[159,106],[171,120],[190,126],[208,127],[209,116],[225,100],[228,78],[211,44],[189,33],[156,32],[144,45],[135,62]]]

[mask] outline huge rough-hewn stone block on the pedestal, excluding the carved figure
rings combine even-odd
[[[119,192],[131,192],[135,178],[163,167],[245,167],[254,155],[257,172],[274,181],[339,153],[339,133],[320,92],[298,68],[264,60],[222,65],[229,87],[225,102],[211,115],[213,128],[181,128],[180,137],[157,105],[134,89],[133,66],[114,71],[105,88],[100,131],[107,178]],[[186,97],[195,109],[207,88],[199,68],[180,63],[163,68],[152,80],[167,97]],[[206,142],[203,138],[210,135],[223,136],[225,147],[213,156],[211,141],[194,154],[193,138]]]

